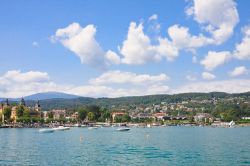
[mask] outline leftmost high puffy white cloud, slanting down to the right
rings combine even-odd
[[[52,41],[60,42],[64,47],[77,55],[81,63],[90,64],[98,68],[106,68],[109,63],[117,62],[119,58],[114,52],[105,53],[95,39],[96,27],[92,24],[81,27],[78,23],[72,23],[65,28],[58,29],[51,37]],[[106,57],[108,59],[106,59]]]

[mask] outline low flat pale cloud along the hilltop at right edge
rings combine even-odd
[[[188,92],[227,92],[241,93],[250,91],[250,80],[224,80],[224,81],[208,81],[195,82],[183,85],[172,93],[188,93]]]

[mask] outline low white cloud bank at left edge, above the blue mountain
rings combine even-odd
[[[0,87],[1,97],[21,97],[38,92],[61,91],[66,88],[52,82],[46,72],[20,70],[11,70],[0,76]]]

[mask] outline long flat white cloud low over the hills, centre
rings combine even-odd
[[[79,86],[68,92],[92,97],[166,94],[170,92],[170,88],[165,84],[168,80],[166,74],[136,74],[116,70],[103,73],[90,79],[89,85]]]

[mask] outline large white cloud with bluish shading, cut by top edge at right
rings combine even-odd
[[[233,0],[193,0],[186,14],[208,31],[216,44],[225,42],[239,22],[236,3]]]

